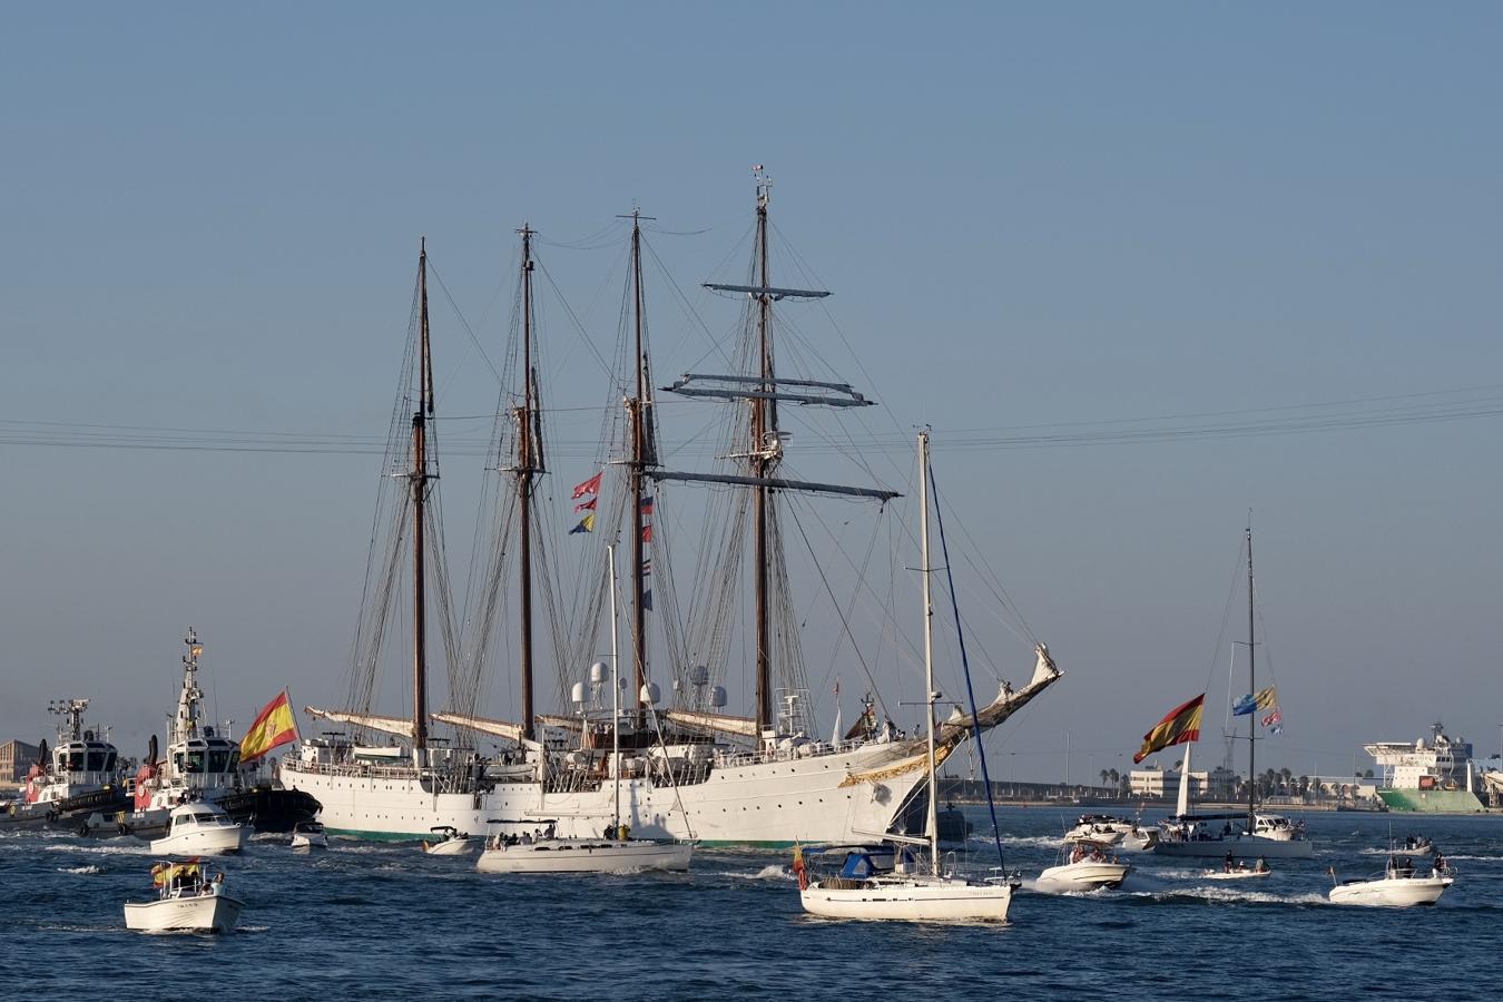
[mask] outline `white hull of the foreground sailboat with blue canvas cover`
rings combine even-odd
[[[1013,892],[1006,883],[966,883],[944,877],[893,877],[858,882],[864,886],[824,886],[815,882],[800,891],[804,910],[822,918],[897,921],[993,921],[1007,919]]]

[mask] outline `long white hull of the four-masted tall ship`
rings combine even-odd
[[[717,766],[703,783],[619,780],[621,820],[652,840],[791,846],[845,843],[888,829],[923,780],[906,769],[881,780],[846,783],[852,772],[905,760],[894,745],[807,759]],[[613,781],[595,790],[547,793],[537,783],[497,783],[484,793],[434,793],[409,769],[346,769],[287,759],[283,784],[323,805],[319,820],[337,834],[427,838],[436,826],[484,832],[491,819],[555,820],[559,837],[594,838],[615,817]],[[430,780],[431,786],[431,780]],[[682,807],[679,807],[679,804]]]

